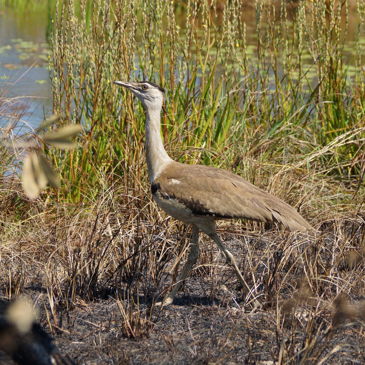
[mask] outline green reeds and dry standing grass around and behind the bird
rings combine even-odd
[[[53,112],[66,116],[58,127],[80,123],[84,131],[72,151],[44,148],[60,185],[35,201],[16,177],[5,177],[4,166],[18,163],[15,150],[0,152],[2,294],[16,297],[42,273],[51,327],[60,326],[60,303],[69,313],[77,300],[112,295],[123,337],[152,333],[163,312],[157,294],[169,289],[169,273],[178,276],[176,258],[185,260],[187,240],[176,242],[185,227],[151,201],[144,110],[112,84],[149,80],[166,90],[162,138],[172,158],[241,174],[321,231],[294,238],[242,222],[250,244],[242,238],[241,269],[276,321],[271,360],[323,360],[345,319],[362,326],[364,343],[365,7],[351,4],[358,30],[351,62],[348,1],[258,0],[255,43],[239,16],[241,1],[226,1],[222,11],[207,0],[57,4]],[[205,239],[195,276],[213,282],[222,268]],[[229,307],[235,296],[220,293],[234,292],[235,282],[222,275],[204,296]]]

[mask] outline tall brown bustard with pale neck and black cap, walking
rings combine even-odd
[[[233,269],[246,295],[246,303],[250,300],[253,307],[262,307],[243,278],[233,254],[216,233],[215,221],[243,218],[264,223],[277,222],[299,231],[314,228],[291,205],[237,174],[212,166],[172,160],[161,138],[165,89],[151,81],[113,82],[130,90],[146,109],[145,152],[153,199],[167,214],[192,227],[187,261],[161,305],[167,306],[173,302],[197,262],[199,232],[202,231],[218,245],[227,264]]]

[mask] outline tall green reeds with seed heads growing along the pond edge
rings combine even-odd
[[[301,0],[297,7],[256,1],[255,51],[238,16],[241,1],[227,3],[222,20],[215,6],[96,1],[90,22],[85,1],[80,16],[73,1],[56,10],[54,112],[85,126],[82,147],[53,157],[72,186],[61,196],[95,199],[106,188],[105,176],[108,184],[122,177],[126,187],[135,187],[131,170],[142,168],[142,179],[146,174],[144,110],[113,80],[151,80],[166,89],[162,138],[180,161],[219,165],[228,153],[228,163],[237,166],[244,153],[287,164],[323,151],[319,160],[330,163],[327,173],[359,176],[362,165],[353,161],[364,141],[364,96],[358,92],[364,74],[360,57],[355,79],[342,59],[347,2],[327,9],[321,0]],[[342,137],[350,131],[352,139]],[[326,150],[333,141],[335,149]]]

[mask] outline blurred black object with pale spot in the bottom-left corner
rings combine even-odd
[[[0,299],[0,350],[19,365],[75,365],[53,345],[24,301]]]

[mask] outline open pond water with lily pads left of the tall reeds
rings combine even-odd
[[[46,13],[19,13],[7,8],[0,11],[0,97],[10,99],[7,114],[22,114],[21,120],[30,127],[41,124],[53,103]],[[8,121],[0,120],[0,127],[5,122]]]

